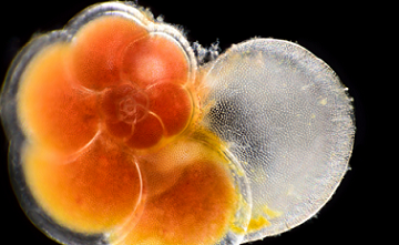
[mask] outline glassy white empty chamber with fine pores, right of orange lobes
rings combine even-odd
[[[253,39],[208,68],[203,123],[250,182],[246,241],[288,231],[319,211],[344,174],[354,142],[351,99],[335,72],[303,47]]]

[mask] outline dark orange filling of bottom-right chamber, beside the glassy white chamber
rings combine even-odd
[[[121,244],[216,244],[226,235],[237,194],[223,164],[192,162],[177,176],[172,187],[149,197],[137,225]]]

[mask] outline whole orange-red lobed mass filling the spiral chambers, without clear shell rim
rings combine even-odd
[[[167,143],[195,113],[190,72],[173,38],[117,16],[38,52],[18,110],[27,184],[43,211],[111,243],[217,243],[237,207],[226,161],[202,143]]]

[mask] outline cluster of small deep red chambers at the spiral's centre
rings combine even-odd
[[[186,89],[162,82],[146,90],[125,83],[104,90],[100,109],[111,135],[134,149],[149,149],[182,132],[193,114]]]

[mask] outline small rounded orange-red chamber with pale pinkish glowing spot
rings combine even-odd
[[[176,41],[151,34],[130,44],[123,55],[123,73],[141,88],[163,80],[186,83],[188,59]]]

